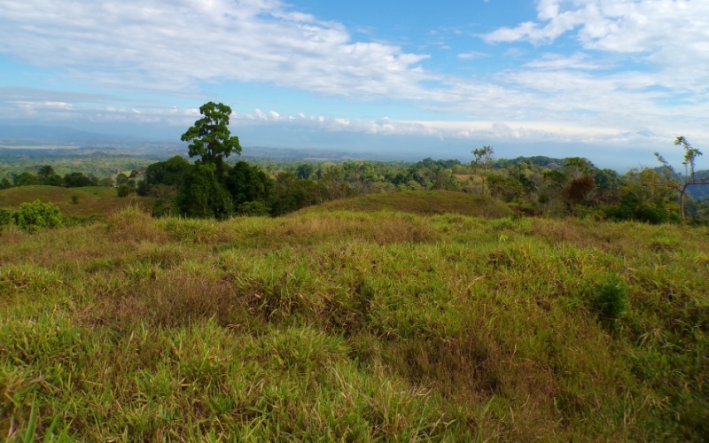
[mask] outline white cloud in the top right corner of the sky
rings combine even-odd
[[[549,44],[565,34],[588,50],[637,55],[669,87],[699,91],[709,82],[709,2],[705,0],[539,0],[538,22],[502,27],[487,43]]]

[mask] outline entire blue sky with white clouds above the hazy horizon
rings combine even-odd
[[[0,0],[0,123],[259,146],[681,162],[709,145],[707,0]],[[709,156],[709,152],[707,152]],[[709,161],[709,159],[707,160]],[[697,161],[702,168],[703,161]]]

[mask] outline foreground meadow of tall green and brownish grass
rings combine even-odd
[[[5,229],[0,435],[701,440],[707,249],[391,211]]]

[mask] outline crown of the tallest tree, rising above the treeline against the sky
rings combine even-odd
[[[209,102],[199,107],[203,118],[194,122],[182,136],[183,142],[191,142],[190,157],[201,157],[201,163],[220,165],[232,152],[241,154],[238,136],[231,136],[229,116],[231,108],[222,103]]]

